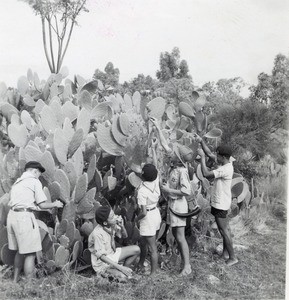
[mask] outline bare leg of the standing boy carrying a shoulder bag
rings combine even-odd
[[[172,231],[178,243],[183,260],[183,269],[180,275],[189,275],[192,272],[192,268],[190,264],[189,246],[185,237],[185,227],[172,227]]]

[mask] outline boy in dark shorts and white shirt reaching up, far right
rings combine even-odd
[[[207,148],[203,140],[197,136],[196,140],[201,143],[202,148],[198,154],[201,157],[201,167],[204,177],[215,178],[213,185],[213,193],[211,196],[211,213],[214,215],[220,234],[223,237],[223,254],[228,266],[232,266],[238,262],[233,249],[233,242],[227,218],[228,210],[231,207],[231,183],[234,168],[231,162],[232,150],[227,145],[220,145],[216,149],[217,156],[213,155]],[[211,159],[214,159],[219,167],[209,170],[206,166],[205,153]]]

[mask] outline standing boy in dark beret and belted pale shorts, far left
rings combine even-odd
[[[24,267],[24,274],[33,277],[36,252],[42,250],[39,227],[34,210],[63,207],[62,202],[46,202],[47,198],[39,180],[45,172],[43,166],[36,161],[25,165],[25,172],[16,180],[11,188],[10,211],[7,216],[8,247],[17,250],[14,259],[14,282]]]

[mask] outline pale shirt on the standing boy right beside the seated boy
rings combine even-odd
[[[138,189],[138,205],[151,209],[157,205],[160,194],[159,177],[154,181],[143,181]]]

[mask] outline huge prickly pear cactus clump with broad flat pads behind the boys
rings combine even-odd
[[[191,161],[191,199],[203,212],[209,207],[211,186],[196,159],[194,133],[215,147],[222,131],[203,112],[204,95],[193,92],[192,101],[175,105],[159,96],[143,98],[139,92],[122,96],[100,81],[86,81],[80,76],[71,81],[65,79],[67,75],[63,68],[47,81],[40,81],[28,70],[27,76],[19,78],[17,89],[0,84],[2,262],[11,261],[13,256],[5,233],[8,193],[30,160],[39,161],[46,169],[42,183],[48,201],[60,199],[65,204],[63,210],[49,212],[54,226],[40,226],[49,270],[72,265],[77,259],[88,261],[84,241],[93,230],[95,209],[107,200],[125,220],[128,238],[120,242],[136,243],[139,231],[134,222],[137,205],[133,187],[140,182],[137,173],[154,134],[149,117],[159,120],[172,147],[177,146],[182,157]],[[166,172],[161,149],[158,159],[162,172]],[[249,203],[251,194],[241,175],[233,179],[232,192],[238,203]],[[231,215],[238,212],[234,202]]]

